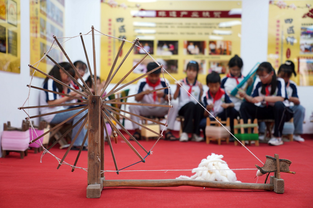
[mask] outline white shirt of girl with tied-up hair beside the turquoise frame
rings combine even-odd
[[[244,76],[240,75],[237,79],[238,79],[238,82],[240,83],[241,81],[244,80]],[[228,76],[223,77],[221,81],[221,88],[223,88],[229,94],[230,99],[233,101],[235,105],[234,108],[236,109],[236,111],[239,111],[241,103],[243,102],[243,99],[232,96],[230,95],[230,93],[233,91],[233,89],[237,87],[239,83],[237,83],[234,77],[228,77]],[[240,89],[244,89],[246,85],[247,83],[244,83],[244,85]]]

